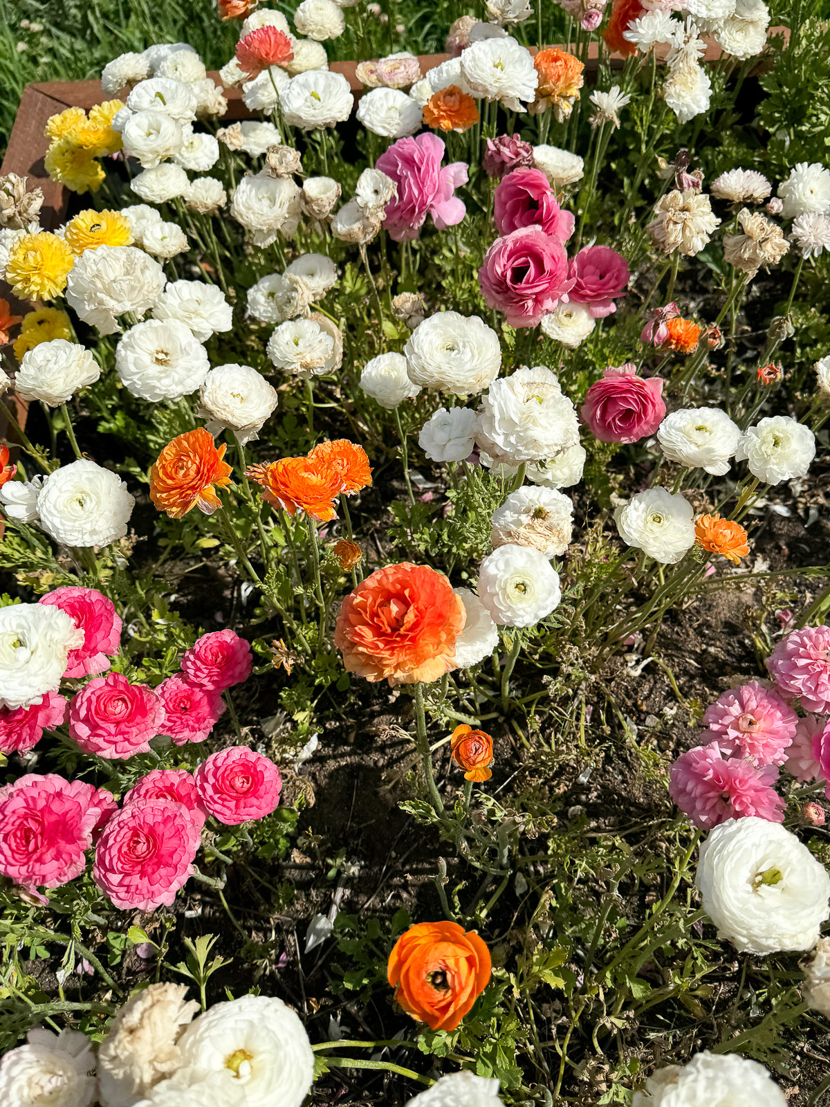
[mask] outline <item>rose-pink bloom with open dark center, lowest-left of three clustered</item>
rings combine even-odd
[[[497,238],[478,270],[481,296],[511,327],[536,327],[568,299],[573,280],[558,238],[539,227],[521,227]]]

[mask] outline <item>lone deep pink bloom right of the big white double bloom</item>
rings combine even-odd
[[[636,375],[631,362],[609,365],[585,393],[580,415],[600,442],[640,442],[654,434],[666,416],[663,379]]]

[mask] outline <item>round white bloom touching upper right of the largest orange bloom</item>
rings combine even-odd
[[[478,570],[478,598],[501,627],[533,627],[559,607],[559,573],[531,546],[499,546]]]

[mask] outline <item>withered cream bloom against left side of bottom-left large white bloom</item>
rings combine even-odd
[[[98,1046],[104,1107],[131,1107],[181,1066],[176,1044],[199,1005],[185,984],[151,984],[127,1000]]]

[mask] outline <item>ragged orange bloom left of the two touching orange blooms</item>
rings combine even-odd
[[[216,488],[231,483],[231,468],[222,461],[226,449],[225,445],[217,449],[204,426],[168,442],[149,470],[149,498],[158,510],[172,519],[180,519],[194,507],[212,515],[221,506]]]

